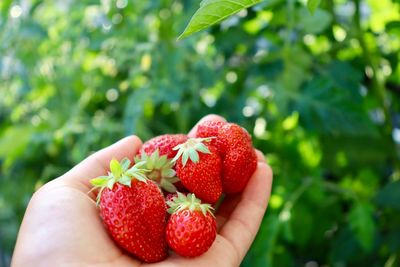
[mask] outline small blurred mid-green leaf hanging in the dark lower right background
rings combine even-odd
[[[348,216],[350,228],[365,251],[370,251],[374,244],[375,222],[372,212],[371,204],[356,202]]]

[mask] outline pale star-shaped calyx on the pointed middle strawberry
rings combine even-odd
[[[212,138],[214,137],[189,138],[189,140],[187,140],[185,143],[177,145],[173,148],[173,150],[178,150],[178,153],[176,153],[176,156],[172,159],[172,161],[176,162],[182,156],[183,167],[185,167],[188,159],[194,163],[198,163],[200,160],[199,152],[211,154],[204,142],[210,142]]]

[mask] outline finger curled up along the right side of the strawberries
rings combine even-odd
[[[231,242],[242,259],[253,242],[268,205],[272,185],[272,171],[265,163],[258,163],[242,198],[220,234]]]

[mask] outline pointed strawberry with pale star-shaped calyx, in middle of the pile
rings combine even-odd
[[[210,138],[190,138],[174,148],[176,174],[190,192],[208,203],[215,203],[222,193],[221,159]],[[199,153],[201,152],[201,153]]]

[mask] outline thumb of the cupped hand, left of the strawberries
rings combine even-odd
[[[118,141],[117,143],[103,148],[100,151],[87,157],[73,169],[63,175],[62,179],[79,182],[90,188],[89,181],[100,175],[106,175],[109,170],[109,163],[112,159],[121,160],[129,158],[133,161],[142,146],[142,141],[137,136],[131,135]]]

